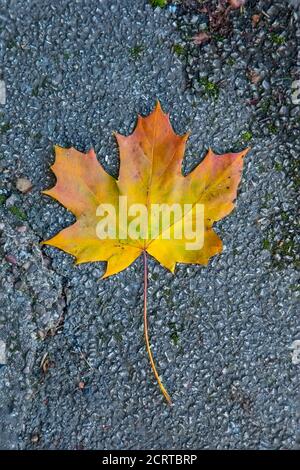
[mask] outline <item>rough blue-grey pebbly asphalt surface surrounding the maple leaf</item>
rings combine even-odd
[[[248,2],[229,36],[199,47],[207,17],[179,3],[0,2],[2,449],[297,445],[299,20],[284,1]],[[156,98],[192,132],[185,171],[209,146],[252,147],[237,208],[217,224],[224,252],[175,276],[150,260],[151,343],[172,407],[145,352],[142,260],[99,281],[103,264],[39,246],[73,220],[40,193],[53,144],[93,146],[116,175],[112,132],[130,133]]]

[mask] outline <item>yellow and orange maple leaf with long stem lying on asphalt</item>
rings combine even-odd
[[[56,146],[52,170],[57,182],[52,189],[44,191],[77,218],[73,225],[44,244],[70,253],[75,256],[76,263],[106,261],[103,277],[122,271],[143,254],[146,346],[153,372],[168,402],[171,400],[161,383],[149,345],[146,252],[172,272],[177,262],[206,265],[212,256],[220,253],[222,242],[212,226],[234,208],[243,157],[248,151],[216,155],[209,150],[206,158],[191,173],[183,176],[181,166],[188,135],[174,133],[169,116],[157,102],[149,116],[138,116],[137,126],[131,135],[115,134],[120,151],[118,179],[106,173],[93,150],[84,154],[74,148]],[[148,216],[146,236],[132,238],[127,233],[128,227],[120,226],[117,238],[99,239],[97,225],[100,217],[97,208],[101,204],[109,204],[120,215],[119,196],[127,197],[128,207],[141,204],[150,208],[155,204],[165,204],[164,210],[167,211],[173,204],[190,204],[190,210],[188,215],[181,214],[177,218],[174,215],[167,227],[159,225],[159,233],[155,237],[151,237],[152,219]],[[203,246],[193,250],[187,248],[190,239],[185,233],[180,239],[176,238],[175,229],[187,216],[195,221],[197,204],[204,207]],[[170,231],[168,239],[164,238],[166,230]]]

